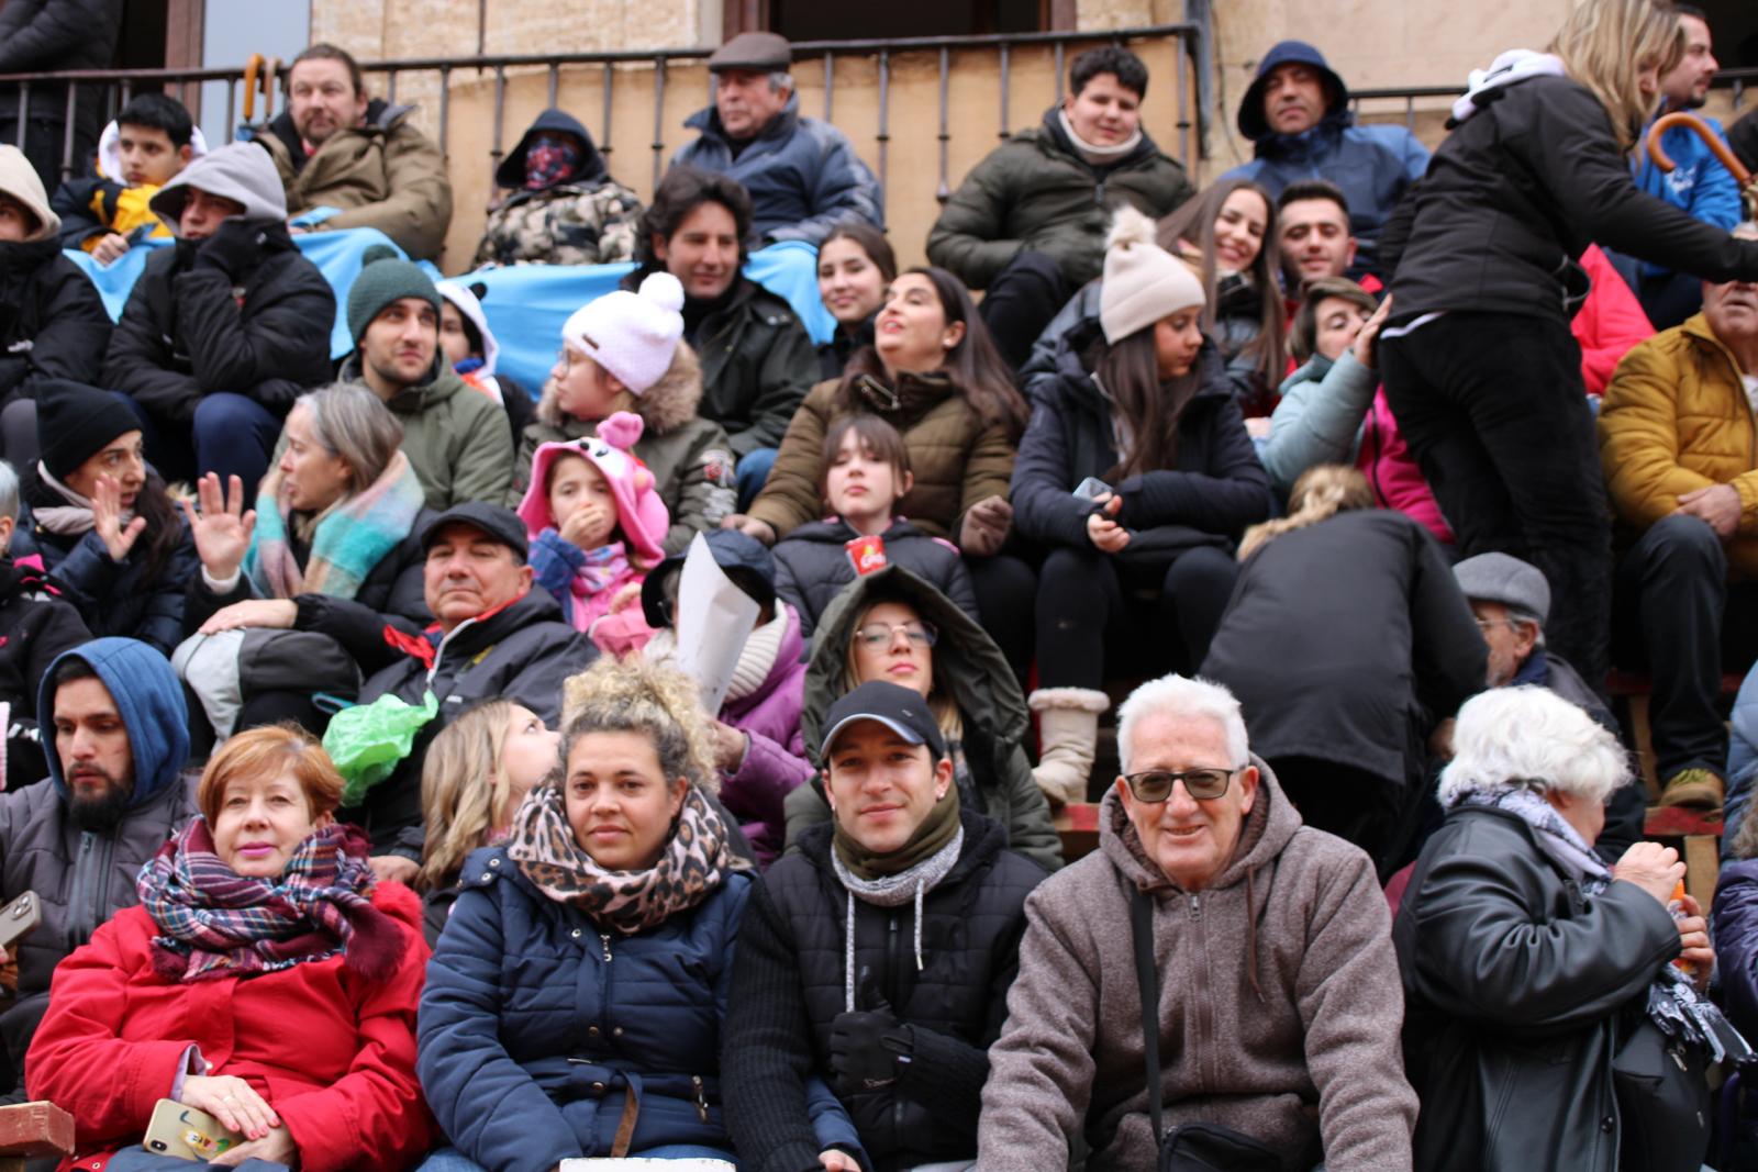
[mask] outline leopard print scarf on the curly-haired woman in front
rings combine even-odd
[[[659,861],[645,872],[610,872],[592,861],[568,826],[556,785],[531,791],[513,817],[506,854],[538,891],[585,912],[601,928],[633,935],[687,912],[721,886],[728,872],[751,866],[731,852],[726,826],[691,785]]]

